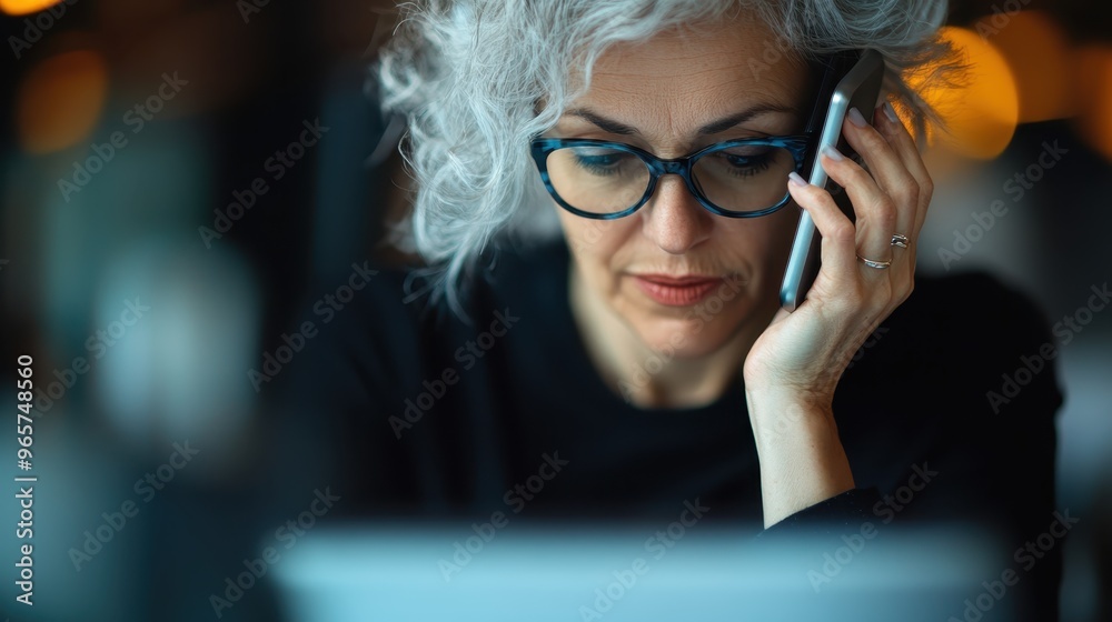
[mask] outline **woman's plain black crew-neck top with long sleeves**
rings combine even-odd
[[[342,511],[358,516],[489,518],[519,508],[529,518],[668,521],[698,499],[714,509],[708,518],[759,533],[758,463],[741,380],[702,408],[624,401],[576,330],[568,262],[563,242],[503,250],[463,299],[466,321],[407,302],[405,273],[387,269],[342,309],[307,309],[298,323],[312,321],[319,334],[285,365],[285,391],[272,388],[292,407],[286,430],[296,437],[275,447],[297,448],[282,457],[291,468],[281,485],[329,483],[345,494]],[[335,283],[320,288],[335,291]],[[1021,357],[1045,363],[1039,352],[1050,343],[1041,313],[990,278],[917,279],[835,395],[857,490],[770,533],[836,535],[863,519],[987,526],[1005,543],[1000,570],[1021,570],[1011,590],[1030,600],[1017,602],[1034,619],[1056,619],[1060,548],[1030,572],[1012,559],[1055,520],[1062,395],[1052,362],[1016,372],[1025,369]],[[1011,384],[1003,392],[1004,377],[1022,382],[1017,394]],[[558,476],[534,478],[544,485],[530,493],[529,478],[553,464]],[[919,489],[913,499],[911,489]],[[884,498],[897,494],[903,503]],[[955,615],[963,608],[955,603]]]

